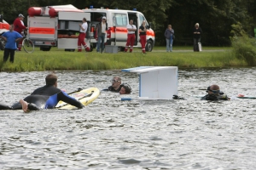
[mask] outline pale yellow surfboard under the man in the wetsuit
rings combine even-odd
[[[89,105],[92,101],[94,101],[99,95],[100,90],[98,88],[86,88],[79,92],[70,94],[75,99],[78,99],[83,105]],[[69,105],[63,101],[59,101],[58,105],[55,106],[57,109],[77,109],[77,107],[73,105]]]

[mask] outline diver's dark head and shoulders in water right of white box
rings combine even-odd
[[[226,94],[220,91],[218,85],[213,84],[207,88],[207,95],[202,100],[230,100]]]

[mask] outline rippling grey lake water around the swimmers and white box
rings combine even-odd
[[[0,72],[1,102],[23,99],[48,73]],[[120,76],[138,96],[136,73],[55,73],[67,92],[107,88]],[[120,101],[102,92],[83,110],[0,111],[0,169],[255,169],[256,100],[234,97],[256,96],[256,68],[178,73],[186,100]],[[231,100],[200,100],[212,83]]]

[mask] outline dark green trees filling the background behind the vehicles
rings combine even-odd
[[[165,44],[164,31],[168,24],[175,30],[175,44],[185,44],[191,40],[191,29],[199,23],[203,34],[202,44],[212,46],[230,45],[231,26],[238,22],[247,34],[254,36],[256,27],[255,0],[0,0],[0,14],[12,23],[18,14],[27,14],[29,7],[73,4],[77,8],[119,8],[133,9],[145,14],[148,22],[153,23],[156,43]],[[26,20],[25,20],[26,23]]]

